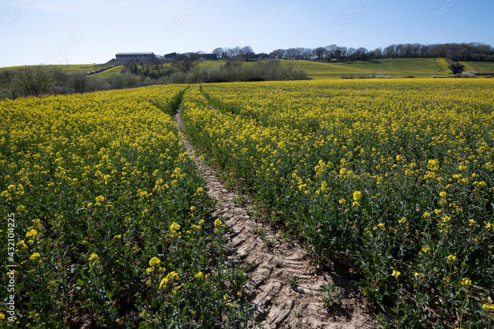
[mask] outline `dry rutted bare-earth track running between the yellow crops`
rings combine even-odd
[[[179,113],[175,122],[187,151],[195,154]],[[372,328],[363,301],[345,274],[317,270],[296,241],[252,219],[248,201],[237,203],[237,193],[228,191],[206,163],[196,161],[206,178],[207,193],[217,201],[212,216],[228,227],[228,261],[245,264],[250,277],[244,289],[250,304],[249,328]],[[321,286],[328,284],[344,297],[342,308],[324,306]]]

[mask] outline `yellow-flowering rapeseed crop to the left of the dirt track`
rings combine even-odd
[[[0,102],[0,327],[243,321],[245,277],[170,116],[187,88]]]

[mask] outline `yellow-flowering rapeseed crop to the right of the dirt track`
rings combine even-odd
[[[322,263],[347,266],[383,328],[493,324],[494,83],[206,84],[190,139]]]

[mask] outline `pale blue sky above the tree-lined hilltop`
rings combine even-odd
[[[2,0],[0,67],[105,63],[118,52],[482,42],[493,0]]]

